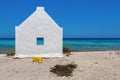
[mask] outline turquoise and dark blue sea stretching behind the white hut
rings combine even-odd
[[[63,46],[71,48],[72,51],[120,50],[120,38],[64,38]],[[14,48],[14,38],[0,39],[0,53],[6,53]]]

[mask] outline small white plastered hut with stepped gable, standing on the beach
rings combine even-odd
[[[16,28],[16,54],[14,57],[63,57],[63,29],[45,12],[36,11]],[[38,44],[41,39],[42,44]]]

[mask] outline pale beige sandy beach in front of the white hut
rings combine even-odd
[[[71,62],[78,65],[72,77],[50,72],[56,64]],[[44,59],[43,63],[0,54],[0,80],[120,80],[120,52],[72,52],[69,57]]]

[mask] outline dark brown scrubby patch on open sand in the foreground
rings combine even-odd
[[[72,76],[72,72],[77,67],[77,64],[70,63],[66,65],[55,65],[54,67],[50,68],[50,72],[57,74],[57,76]]]

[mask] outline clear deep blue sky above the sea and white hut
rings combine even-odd
[[[0,38],[14,38],[37,6],[63,27],[64,38],[120,38],[120,0],[0,0]]]

